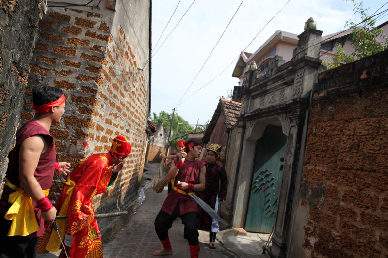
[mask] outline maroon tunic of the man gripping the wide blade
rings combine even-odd
[[[177,164],[179,161],[178,158],[174,159],[174,163]],[[199,172],[201,168],[206,164],[205,162],[195,159],[194,161],[189,161],[185,159],[184,165],[179,169],[178,174],[175,176],[175,183],[179,180],[180,182],[187,182],[191,184],[199,183]],[[180,215],[186,214],[188,212],[198,212],[197,202],[190,196],[184,195],[181,193],[175,194],[176,191],[170,191],[168,193],[164,203],[162,205],[162,211],[171,215],[173,213],[175,206],[179,201]]]

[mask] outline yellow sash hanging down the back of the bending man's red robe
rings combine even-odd
[[[74,190],[74,186],[76,183],[74,181],[71,181],[70,178],[67,179],[67,182],[65,183],[64,187],[66,189],[67,197],[65,199],[64,204],[61,206],[61,210],[58,213],[58,216],[65,216],[67,215],[67,209],[69,207],[71,195]],[[66,233],[66,219],[59,219],[57,221],[58,223],[58,232],[61,235],[61,238],[64,239],[65,233]],[[49,250],[51,252],[58,252],[59,248],[61,247],[61,239],[59,238],[58,234],[51,234],[49,242],[47,243],[46,250]]]

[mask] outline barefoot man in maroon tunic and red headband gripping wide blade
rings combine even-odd
[[[168,230],[174,220],[180,218],[185,225],[185,238],[189,241],[190,257],[198,258],[199,241],[196,228],[198,204],[189,195],[205,188],[205,162],[198,160],[202,152],[202,142],[197,139],[187,141],[186,158],[182,153],[171,164],[167,180],[171,181],[173,190],[168,193],[161,211],[155,219],[155,231],[163,244],[162,250],[155,251],[156,256],[173,253]],[[178,187],[178,188],[177,188]],[[194,192],[195,191],[195,192]]]

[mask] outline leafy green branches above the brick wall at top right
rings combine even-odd
[[[368,15],[369,8],[364,8],[362,2],[357,3],[355,0],[345,1],[350,1],[354,4],[354,14],[360,15],[362,23],[357,24],[356,20],[352,19],[346,21],[345,27],[353,30],[351,37],[354,52],[346,55],[342,46],[339,45],[333,57],[333,62],[324,62],[327,69],[332,69],[342,63],[353,62],[388,49],[388,39],[383,34],[383,29],[375,27],[376,19]],[[384,42],[380,42],[377,37],[382,37]]]

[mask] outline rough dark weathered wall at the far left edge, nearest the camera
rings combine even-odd
[[[39,36],[42,0],[1,1],[0,5],[0,196],[8,153],[16,140],[31,51]]]

